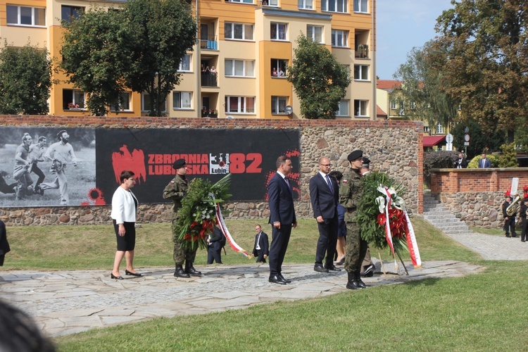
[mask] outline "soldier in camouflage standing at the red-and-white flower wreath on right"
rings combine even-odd
[[[347,289],[364,289],[367,287],[361,281],[361,263],[367,251],[367,241],[361,239],[360,229],[356,222],[358,203],[363,196],[360,169],[363,165],[363,151],[353,151],[348,154],[350,168],[341,179],[339,188],[339,203],[345,208],[346,223],[346,257],[345,270],[348,272]]]

